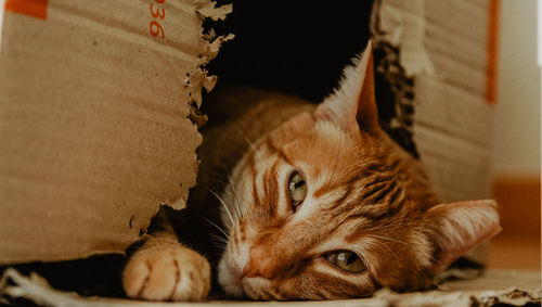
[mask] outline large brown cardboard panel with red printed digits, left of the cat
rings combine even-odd
[[[223,40],[204,39],[202,22],[231,11],[208,2],[49,0],[46,18],[4,12],[1,264],[122,252],[160,203],[182,205],[202,141],[190,103],[212,88],[199,67]]]

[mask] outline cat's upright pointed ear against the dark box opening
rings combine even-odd
[[[339,87],[317,107],[314,117],[331,120],[347,131],[360,128],[367,132],[380,131],[371,40],[352,62],[353,66],[344,69]]]

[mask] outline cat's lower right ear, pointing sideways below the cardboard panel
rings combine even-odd
[[[494,201],[441,204],[426,213],[431,223],[435,272],[443,271],[455,259],[501,231]]]

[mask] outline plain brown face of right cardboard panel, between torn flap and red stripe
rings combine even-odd
[[[436,75],[416,78],[415,138],[446,202],[490,197],[489,2],[426,1],[426,48]]]

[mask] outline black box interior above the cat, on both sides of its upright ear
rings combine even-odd
[[[235,34],[235,39],[222,46],[207,68],[219,76],[218,87],[249,86],[319,103],[338,86],[343,68],[365,48],[371,37],[373,2],[234,0],[233,13],[225,22],[205,24],[218,35]],[[389,57],[390,51],[398,54],[399,50],[389,44],[374,49],[375,67],[380,63],[389,72],[385,57]],[[398,59],[392,60],[399,71],[393,76],[375,69],[380,124],[401,146],[418,157],[410,129],[412,121],[402,116],[414,111],[410,105],[402,107],[402,112],[398,110],[399,101],[414,98],[413,92],[398,87],[405,84],[412,87],[413,79],[404,76]],[[391,125],[392,118],[402,125]]]

